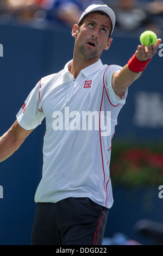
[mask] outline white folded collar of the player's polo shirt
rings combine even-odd
[[[72,62],[72,59],[70,60],[70,62],[67,62],[64,69],[61,72],[61,77],[63,77],[68,71],[68,65]],[[87,77],[89,75],[92,75],[93,73],[96,73],[99,69],[101,69],[103,67],[103,63],[101,61],[101,59],[98,59],[97,62],[87,66],[85,69],[82,69],[80,72],[82,72],[82,74]]]

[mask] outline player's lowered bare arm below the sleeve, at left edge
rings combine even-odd
[[[0,137],[0,162],[11,156],[33,130],[23,129],[16,120],[10,129]]]

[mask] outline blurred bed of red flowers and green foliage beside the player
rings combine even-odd
[[[163,151],[117,147],[110,164],[112,184],[146,186],[163,184]]]

